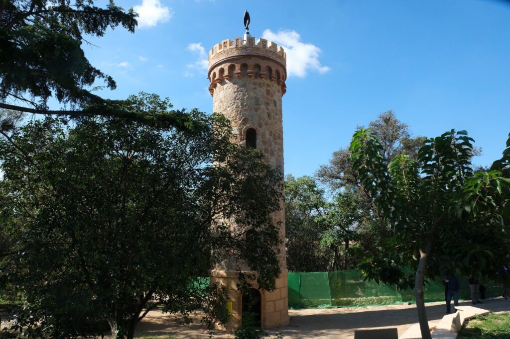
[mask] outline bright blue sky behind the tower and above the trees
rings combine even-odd
[[[142,2],[143,1],[143,2]],[[133,0],[141,27],[84,46],[125,98],[140,91],[176,108],[212,111],[208,50],[250,33],[288,48],[283,97],[285,172],[313,175],[356,126],[393,109],[415,135],[466,129],[498,159],[510,132],[510,2]],[[291,55],[292,54],[292,55]],[[292,65],[291,65],[292,64]]]

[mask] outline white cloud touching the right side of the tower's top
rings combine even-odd
[[[265,30],[262,33],[262,38],[284,47],[287,53],[288,76],[302,78],[307,75],[309,70],[321,74],[329,71],[329,67],[322,66],[319,61],[321,49],[313,44],[305,44],[299,41],[301,37],[296,31],[285,30],[274,33],[271,30]]]

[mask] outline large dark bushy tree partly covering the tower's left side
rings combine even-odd
[[[170,107],[154,96],[131,100]],[[280,240],[270,213],[279,209],[281,174],[232,144],[222,116],[188,115],[203,128],[48,117],[2,132],[0,228],[13,245],[0,257],[0,280],[23,296],[23,336],[110,328],[131,339],[155,307],[185,319],[202,308],[209,324],[224,322],[225,291],[200,279],[219,251],[274,289]],[[250,243],[224,220],[251,229]]]

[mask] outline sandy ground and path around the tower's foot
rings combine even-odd
[[[471,305],[471,302],[461,302]],[[477,305],[492,312],[510,312],[510,299],[494,298]],[[453,307],[453,304],[452,304]],[[429,321],[439,321],[446,311],[444,302],[427,303]],[[398,334],[404,333],[418,322],[415,305],[390,305],[345,308],[307,308],[289,310],[290,324],[279,328],[284,338],[354,338],[356,329],[397,327]],[[194,320],[199,321],[199,315]],[[276,333],[270,330],[269,333]],[[208,330],[195,323],[181,325],[174,318],[151,312],[138,325],[137,337],[143,335],[171,335],[176,338],[206,338]],[[232,335],[217,331],[215,337],[233,338]]]

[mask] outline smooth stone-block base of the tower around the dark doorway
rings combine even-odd
[[[285,270],[276,279],[276,289],[274,291],[259,290],[257,281],[251,282],[251,287],[260,292],[260,320],[262,328],[273,328],[289,324],[289,295],[287,288],[287,273]],[[235,331],[239,325],[243,313],[243,296],[237,290],[236,271],[217,271],[211,272],[211,283],[225,286],[230,296],[228,309],[232,316],[225,326],[216,325],[216,329],[224,330],[227,333]]]

